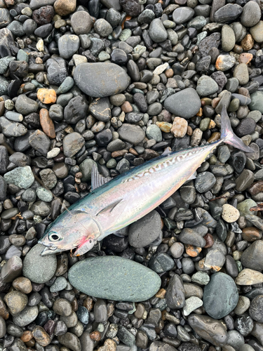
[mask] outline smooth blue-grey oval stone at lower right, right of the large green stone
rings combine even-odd
[[[203,291],[203,306],[210,317],[220,319],[234,310],[238,303],[238,289],[234,279],[218,272],[210,277]]]

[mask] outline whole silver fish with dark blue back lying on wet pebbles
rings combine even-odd
[[[44,246],[41,255],[75,250],[73,255],[80,256],[90,251],[97,241],[134,223],[168,199],[222,143],[253,152],[232,131],[225,106],[220,140],[177,152],[166,151],[111,180],[100,175],[97,165],[93,166],[92,191],[47,227],[39,240]]]

